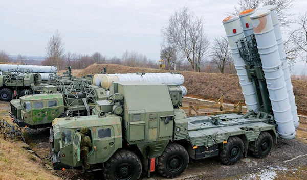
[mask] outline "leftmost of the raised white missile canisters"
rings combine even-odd
[[[249,80],[246,71],[246,63],[244,59],[240,57],[238,46],[236,41],[244,38],[243,30],[241,28],[240,20],[238,16],[229,16],[223,20],[224,28],[229,42],[229,47],[232,52],[234,60],[234,66],[239,77],[239,83],[244,95],[245,104],[249,110],[255,110],[258,108],[257,97],[253,83]],[[240,44],[238,44],[240,45]],[[256,111],[257,112],[257,111]]]

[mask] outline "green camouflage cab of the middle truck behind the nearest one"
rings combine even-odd
[[[26,95],[11,101],[10,116],[20,127],[41,128],[64,113],[61,93]]]

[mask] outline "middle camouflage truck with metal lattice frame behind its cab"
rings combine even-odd
[[[41,94],[26,95],[11,100],[9,115],[20,127],[50,127],[57,117],[67,112],[72,116],[91,115],[95,101],[105,100],[106,91],[82,78],[55,79]]]

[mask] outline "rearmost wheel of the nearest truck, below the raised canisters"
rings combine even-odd
[[[273,146],[273,137],[268,132],[261,132],[256,140],[255,151],[253,152],[254,157],[264,158],[266,157]]]

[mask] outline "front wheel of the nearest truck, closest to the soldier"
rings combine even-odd
[[[116,152],[103,168],[105,180],[135,180],[140,178],[141,173],[141,160],[129,150]]]

